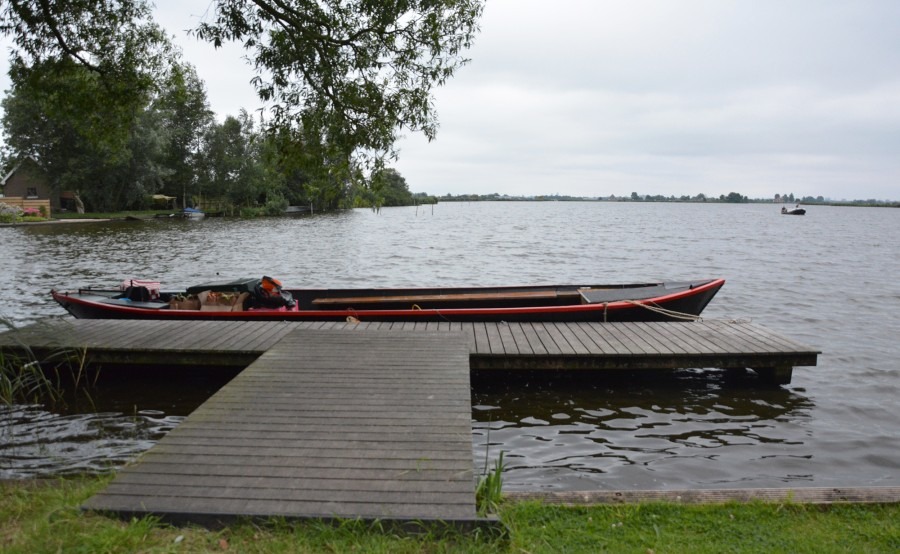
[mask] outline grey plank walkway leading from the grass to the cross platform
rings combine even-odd
[[[481,524],[468,359],[455,333],[295,329],[85,507]]]

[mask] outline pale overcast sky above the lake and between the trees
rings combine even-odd
[[[252,111],[240,49],[184,33],[209,4],[157,20]],[[898,0],[488,0],[468,57],[399,144],[413,191],[900,199]]]

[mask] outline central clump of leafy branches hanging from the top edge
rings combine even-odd
[[[275,123],[344,153],[432,139],[432,89],[466,59],[483,0],[217,0],[196,35],[248,52]]]

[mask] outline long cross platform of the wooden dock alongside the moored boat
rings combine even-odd
[[[473,370],[753,369],[790,383],[819,352],[746,322],[343,323],[49,320],[0,334],[0,349],[94,363],[246,367],[294,329],[461,333]],[[25,348],[27,346],[27,348]]]

